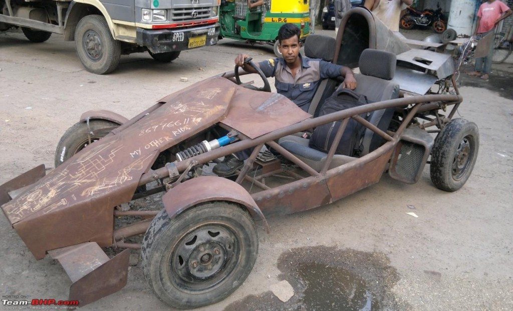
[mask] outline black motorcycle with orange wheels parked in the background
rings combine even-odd
[[[423,11],[418,11],[414,8],[408,7],[408,12],[401,17],[401,21],[399,22],[399,26],[402,29],[412,29],[415,26],[421,27],[429,27],[433,28],[433,31],[436,33],[442,33],[447,29],[447,24],[445,23],[445,17],[442,13],[442,8],[440,8],[440,4],[437,4],[437,9],[424,9]]]

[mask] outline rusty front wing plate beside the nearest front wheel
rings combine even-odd
[[[73,282],[69,300],[84,306],[115,293],[127,284],[130,250],[125,249],[112,259],[95,242],[49,250]]]

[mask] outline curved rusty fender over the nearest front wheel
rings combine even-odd
[[[187,208],[208,201],[230,201],[247,208],[253,218],[260,219],[267,231],[269,225],[248,191],[238,183],[213,176],[202,176],[183,182],[169,190],[162,201],[170,218]]]

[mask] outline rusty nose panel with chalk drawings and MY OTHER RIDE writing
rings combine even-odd
[[[231,92],[206,93],[212,85]],[[37,259],[46,250],[86,241],[112,244],[113,207],[130,201],[162,150],[224,118],[235,87],[218,78],[205,81],[204,93],[168,96],[132,126],[84,148],[4,204],[5,215]]]

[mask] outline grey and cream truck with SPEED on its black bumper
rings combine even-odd
[[[34,43],[52,33],[74,41],[92,73],[107,74],[122,54],[148,51],[168,63],[183,50],[219,40],[221,0],[0,0],[0,31],[21,28]]]

